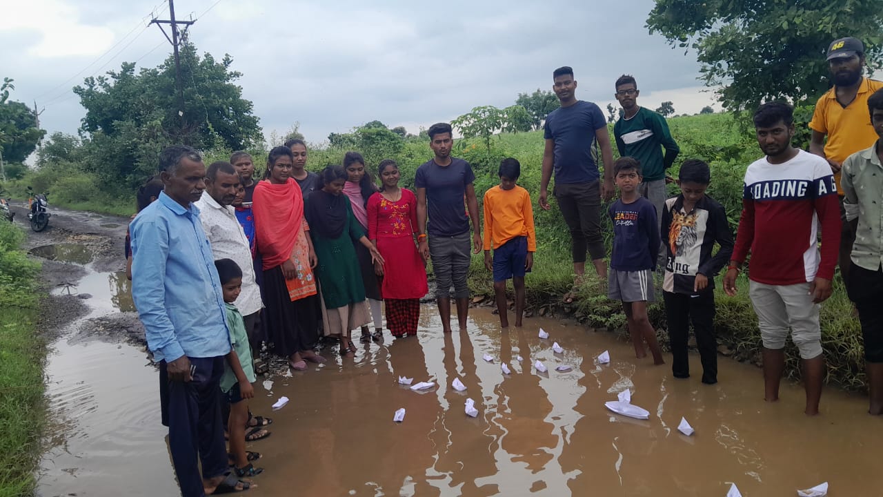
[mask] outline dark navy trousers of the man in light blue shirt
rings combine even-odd
[[[169,448],[184,497],[203,497],[202,477],[227,470],[219,399],[223,362],[223,356],[191,357],[192,381],[169,382]]]

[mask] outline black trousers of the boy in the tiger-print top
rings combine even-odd
[[[671,370],[676,378],[690,378],[687,337],[690,323],[696,333],[696,345],[702,360],[702,382],[717,383],[717,340],[714,336],[714,291],[696,295],[663,292],[668,317],[668,339],[673,356]]]

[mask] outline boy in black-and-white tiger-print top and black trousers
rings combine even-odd
[[[662,208],[666,240],[662,297],[668,318],[668,339],[675,378],[690,378],[687,336],[690,322],[702,360],[702,383],[717,383],[717,339],[714,336],[714,276],[733,254],[733,233],[727,211],[706,195],[711,169],[698,159],[683,162],[677,185],[681,195]],[[721,248],[712,256],[714,244]]]

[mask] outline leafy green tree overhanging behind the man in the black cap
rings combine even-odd
[[[701,79],[731,111],[815,99],[829,85],[828,43],[847,34],[864,42],[872,70],[883,65],[879,0],[656,0],[646,22],[673,47],[696,50]]]

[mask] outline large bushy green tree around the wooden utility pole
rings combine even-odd
[[[123,63],[119,71],[73,88],[86,109],[80,126],[89,138],[84,166],[102,186],[128,191],[140,184],[155,172],[156,155],[170,143],[238,150],[262,141],[253,104],[234,83],[241,74],[230,70],[230,56],[220,62],[208,53],[200,57],[190,42],[182,44],[180,55],[183,116],[178,116],[172,57],[138,73],[133,63]]]

